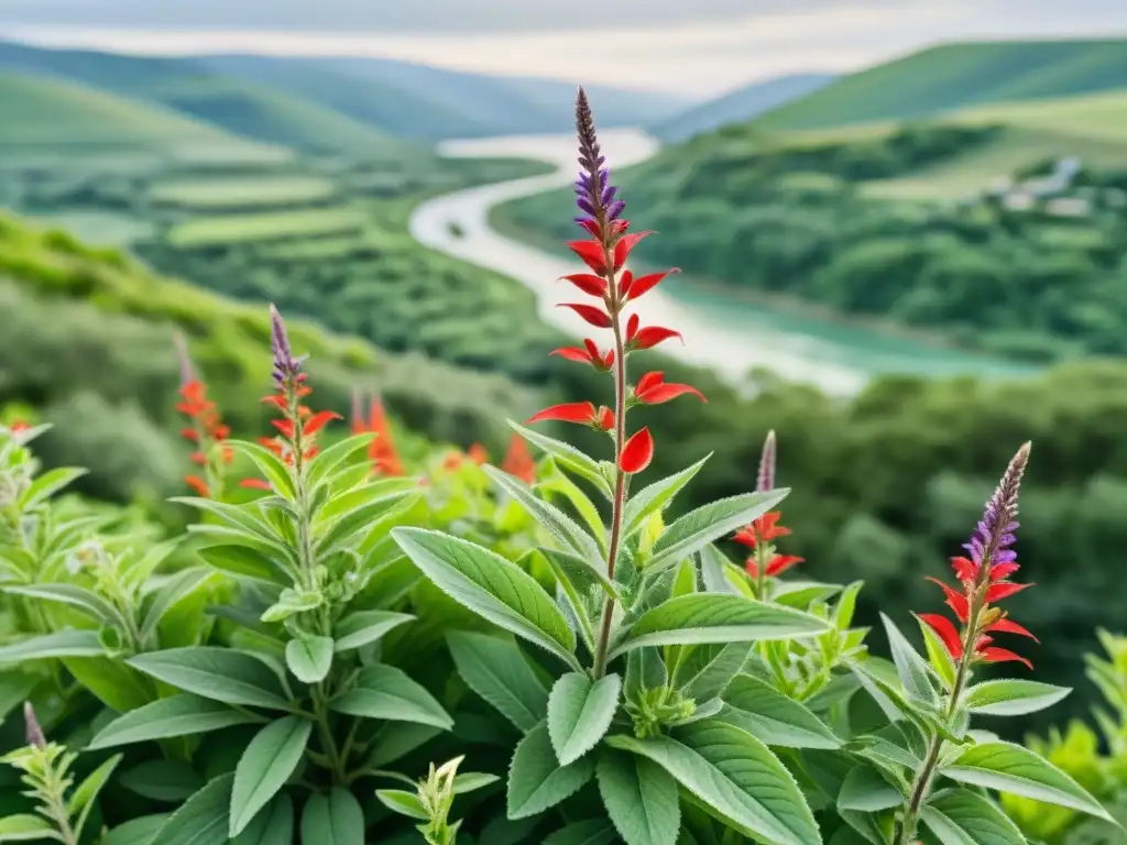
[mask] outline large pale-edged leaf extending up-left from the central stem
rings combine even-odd
[[[518,566],[467,540],[423,528],[391,532],[423,573],[446,595],[479,616],[556,655],[568,666],[575,657],[575,632],[564,613]]]

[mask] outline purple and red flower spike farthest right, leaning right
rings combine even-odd
[[[1018,528],[1018,492],[1021,477],[1029,463],[1030,444],[1018,450],[1010,462],[1002,481],[986,504],[983,518],[974,535],[964,548],[969,557],[952,558],[951,564],[960,589],[956,589],[937,578],[947,596],[947,606],[955,613],[961,630],[938,613],[921,614],[931,629],[939,634],[951,657],[957,661],[976,660],[990,664],[1017,661],[1032,668],[1032,664],[1009,649],[993,644],[993,634],[1012,633],[1037,640],[1033,634],[1009,619],[1005,611],[995,606],[1015,593],[1031,587],[1018,584],[1010,576],[1018,571],[1018,553],[1013,550]]]

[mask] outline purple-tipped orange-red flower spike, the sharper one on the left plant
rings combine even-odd
[[[335,411],[314,413],[302,403],[313,392],[308,383],[309,375],[301,370],[305,356],[293,356],[285,322],[274,305],[270,305],[270,348],[274,352],[274,392],[264,397],[263,401],[275,406],[282,418],[270,420],[278,434],[261,437],[258,442],[286,464],[300,470],[304,462],[312,460],[318,453],[318,432],[329,421],[340,419],[340,415]],[[241,483],[249,488],[270,489],[269,483],[263,479],[247,479]]]

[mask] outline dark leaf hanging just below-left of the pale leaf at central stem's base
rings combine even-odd
[[[508,818],[523,819],[554,807],[578,792],[595,773],[595,762],[582,757],[567,766],[556,763],[548,726],[541,722],[516,746],[508,770]]]

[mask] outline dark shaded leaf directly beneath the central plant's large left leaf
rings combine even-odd
[[[446,634],[450,655],[462,681],[522,732],[548,713],[548,690],[512,640],[469,631]]]

